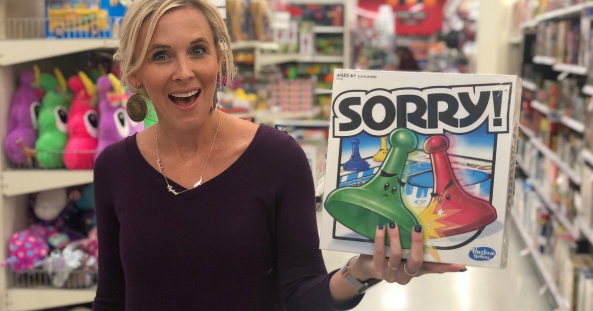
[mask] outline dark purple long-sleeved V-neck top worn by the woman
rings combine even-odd
[[[101,153],[94,182],[94,311],[334,310],[362,299],[331,300],[311,169],[279,130],[260,126],[228,169],[177,196],[136,136]]]

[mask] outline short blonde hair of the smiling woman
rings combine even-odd
[[[113,55],[113,59],[119,62],[122,70],[122,82],[136,93],[146,96],[144,88],[131,85],[130,76],[136,73],[142,65],[142,60],[148,51],[148,44],[157,22],[165,12],[179,7],[193,7],[205,15],[214,38],[216,54],[218,54],[220,60],[218,74],[221,77],[226,77],[228,82],[231,82],[234,78],[235,69],[232,62],[231,38],[228,35],[227,25],[216,5],[210,0],[135,0],[123,18],[119,49]],[[146,39],[142,44],[141,52],[136,57],[136,41],[138,41],[140,28],[146,22],[150,23],[148,24]]]

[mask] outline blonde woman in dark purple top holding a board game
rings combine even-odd
[[[327,274],[302,149],[213,108],[217,79],[233,75],[229,42],[208,0],[136,0],[127,12],[115,59],[159,121],[97,159],[93,310],[350,309],[361,283],[464,269],[423,263],[420,227],[404,263],[391,223],[377,224],[374,256]]]

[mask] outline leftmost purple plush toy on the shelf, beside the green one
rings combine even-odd
[[[15,164],[33,165],[35,142],[37,141],[37,113],[41,97],[33,84],[39,83],[39,67],[21,72],[21,84],[14,94],[10,109],[8,133],[4,148],[8,159]]]

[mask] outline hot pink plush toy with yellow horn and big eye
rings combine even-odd
[[[66,123],[68,143],[64,164],[68,169],[92,169],[98,143],[97,87],[82,71],[68,79],[68,86],[75,96]]]

